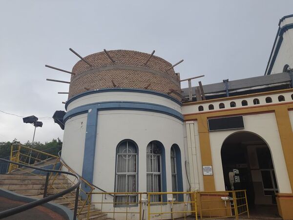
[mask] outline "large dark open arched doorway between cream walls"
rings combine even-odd
[[[276,217],[278,186],[267,143],[252,132],[235,132],[221,148],[226,190],[247,190],[251,214]]]

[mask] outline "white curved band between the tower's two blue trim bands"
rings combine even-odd
[[[171,109],[181,112],[181,106],[178,105],[176,102],[172,101],[171,99],[148,93],[125,91],[109,91],[85,95],[69,103],[69,105],[67,106],[67,111],[86,104],[109,101],[132,101],[153,103],[167,106]]]

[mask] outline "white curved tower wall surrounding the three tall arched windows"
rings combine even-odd
[[[183,141],[183,122],[171,116],[136,110],[105,110],[98,114],[98,129],[93,183],[114,192],[116,147],[124,139],[138,145],[138,192],[146,192],[146,146],[152,140],[165,147],[167,191],[172,191],[170,148],[177,144],[181,151],[184,190],[187,189]]]

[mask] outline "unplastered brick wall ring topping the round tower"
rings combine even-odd
[[[103,51],[84,57],[84,59],[92,66],[87,65],[83,61],[79,61],[75,66],[73,66],[72,72],[74,72],[76,75],[71,76],[68,98],[86,91],[84,88],[89,88],[90,90],[99,88],[114,88],[111,80],[114,81],[117,87],[122,88],[145,89],[148,84],[151,84],[147,89],[163,93],[170,92],[170,89],[174,89],[180,92],[180,79],[175,74],[173,68],[166,72],[166,69],[172,65],[164,59],[153,56],[147,65],[144,65],[147,58],[149,57],[149,54],[147,53],[129,50],[110,50],[108,53],[115,61],[114,64]],[[82,74],[85,71],[93,68],[115,65],[147,67],[149,69],[160,71],[162,74],[166,74],[166,76],[173,78],[173,80],[178,83],[175,84],[170,79],[158,74],[143,70],[130,69],[109,69],[102,71],[97,70],[97,72],[91,72],[81,77],[77,77],[79,74]],[[170,96],[181,101],[180,97],[176,94],[171,93]]]

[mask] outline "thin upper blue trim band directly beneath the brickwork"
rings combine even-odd
[[[158,95],[158,96],[162,96],[164,98],[167,98],[175,103],[177,103],[178,105],[182,106],[182,103],[180,101],[178,101],[177,99],[173,98],[170,95],[167,95],[165,93],[162,92],[157,92],[154,90],[148,90],[148,89],[141,89],[141,88],[101,88],[101,89],[97,89],[97,90],[90,90],[90,91],[85,91],[83,93],[77,94],[73,97],[71,97],[70,99],[67,100],[66,104],[65,104],[65,110],[67,110],[67,106],[73,102],[74,100],[81,98],[85,95],[90,95],[90,94],[95,94],[95,93],[100,93],[100,92],[111,92],[111,91],[122,91],[122,92],[140,92],[140,93],[146,93],[146,94],[152,94],[152,95]]]

